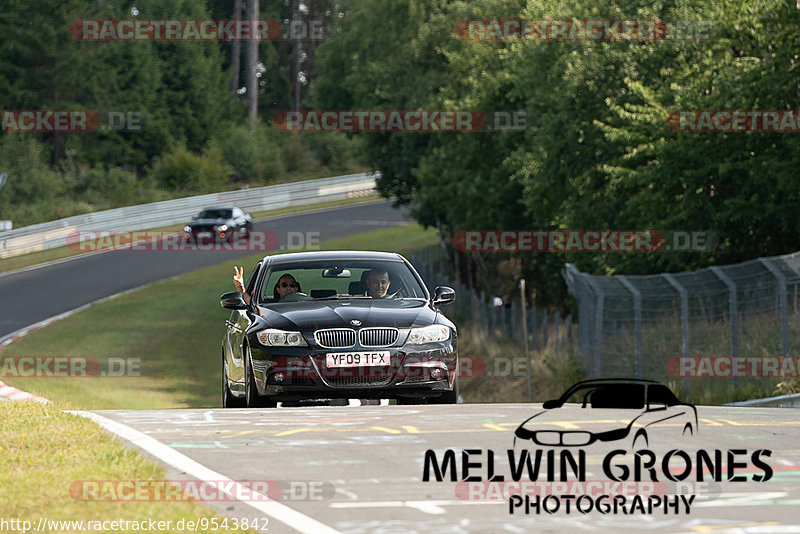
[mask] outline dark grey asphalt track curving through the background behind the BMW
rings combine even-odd
[[[392,209],[388,201],[376,201],[257,221],[254,230],[276,235],[280,248],[287,246],[287,239],[293,245],[313,244],[403,224],[409,224],[404,211]],[[252,254],[236,250],[107,251],[0,274],[0,339],[103,297]],[[245,266],[246,276],[252,267]]]

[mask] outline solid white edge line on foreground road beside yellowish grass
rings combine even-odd
[[[242,486],[238,482],[209,469],[203,464],[196,462],[195,460],[192,460],[188,456],[179,453],[160,441],[153,439],[144,432],[140,432],[127,425],[123,425],[122,423],[118,423],[96,413],[85,412],[82,410],[70,410],[69,413],[91,419],[112,434],[116,434],[122,439],[131,442],[140,449],[152,454],[165,464],[168,464],[179,471],[183,471],[198,480],[224,480],[225,482],[231,482],[232,486],[230,489],[221,486],[221,491],[233,499],[236,499],[237,494],[246,495],[247,492],[250,492],[251,494],[255,493],[252,488]],[[263,497],[266,499],[266,496]],[[302,532],[303,534],[340,534],[338,530],[275,501],[240,502],[255,508],[268,517],[280,521],[281,523],[284,523],[285,525]]]

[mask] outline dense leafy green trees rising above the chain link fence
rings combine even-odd
[[[320,48],[319,107],[524,111],[525,132],[371,134],[385,196],[445,236],[465,229],[711,231],[706,252],[522,254],[513,276],[563,304],[565,262],[694,269],[800,249],[797,135],[678,133],[674,110],[796,109],[794,4],[537,0],[347,4]],[[661,19],[657,41],[464,41],[464,19]],[[392,21],[400,21],[392,24]],[[677,23],[701,29],[677,34]],[[669,33],[672,32],[672,33]],[[478,279],[506,255],[467,255]],[[502,257],[501,257],[502,256]],[[469,278],[469,277],[468,277]],[[499,286],[506,277],[496,280]],[[492,281],[489,281],[489,285]]]

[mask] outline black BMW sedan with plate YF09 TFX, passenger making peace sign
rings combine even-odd
[[[455,325],[411,263],[385,252],[267,256],[239,292],[222,342],[223,406],[300,399],[458,399]],[[246,302],[249,300],[249,302]]]

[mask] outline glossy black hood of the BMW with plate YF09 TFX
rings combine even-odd
[[[282,330],[318,330],[320,328],[364,328],[427,326],[437,312],[421,300],[315,300],[270,304],[259,307],[264,326]],[[350,321],[361,321],[353,325]]]

